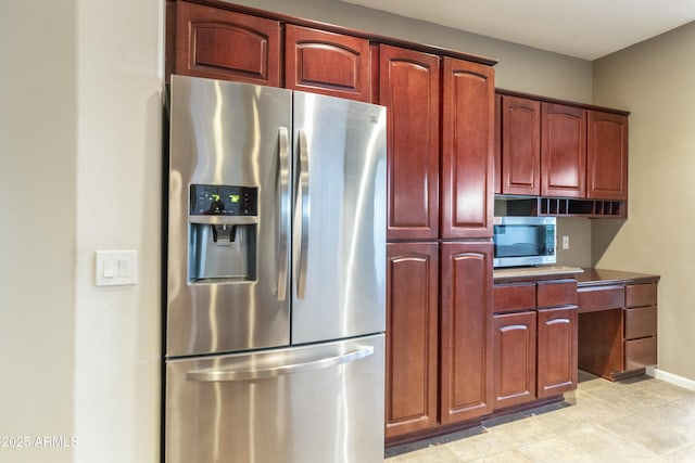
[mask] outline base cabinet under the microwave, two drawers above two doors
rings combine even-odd
[[[494,410],[577,388],[577,282],[494,286]]]

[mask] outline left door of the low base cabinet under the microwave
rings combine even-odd
[[[535,311],[495,314],[494,408],[535,399]]]

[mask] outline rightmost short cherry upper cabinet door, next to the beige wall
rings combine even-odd
[[[628,198],[628,116],[589,112],[587,197]]]

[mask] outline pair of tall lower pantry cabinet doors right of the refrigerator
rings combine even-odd
[[[387,249],[390,443],[492,412],[492,242]]]

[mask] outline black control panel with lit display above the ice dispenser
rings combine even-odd
[[[190,214],[195,216],[257,216],[258,191],[249,187],[191,185]]]

